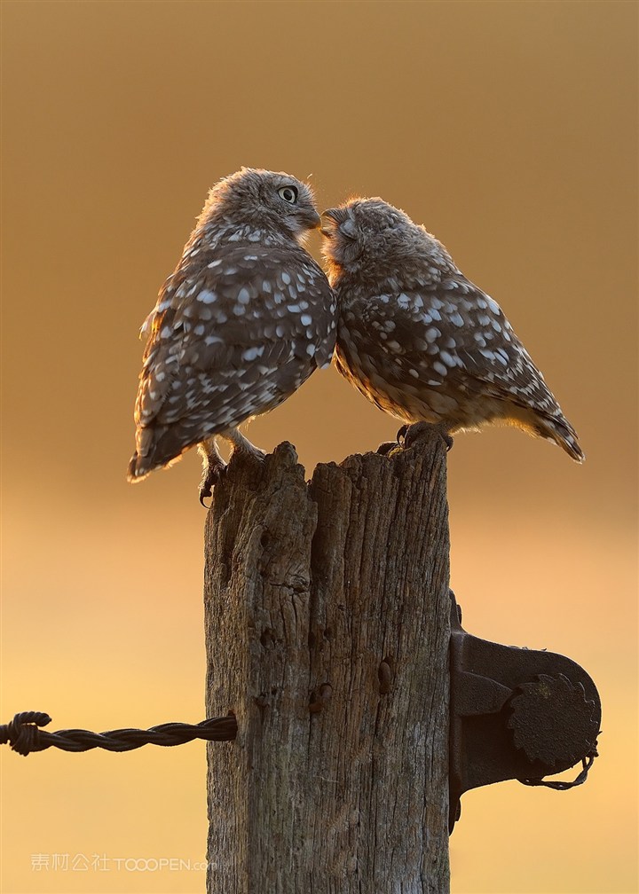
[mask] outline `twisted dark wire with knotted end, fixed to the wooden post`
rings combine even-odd
[[[39,727],[51,722],[48,714],[39,711],[23,711],[13,721],[0,725],[0,745],[11,746],[19,755],[33,751],[60,748],[62,751],[90,751],[104,748],[106,751],[132,751],[144,745],[184,745],[200,738],[207,742],[228,742],[237,735],[237,721],[233,713],[226,717],[212,717],[196,725],[190,723],[161,723],[149,730],[57,730],[46,732]]]

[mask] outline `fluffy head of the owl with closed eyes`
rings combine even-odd
[[[343,274],[368,279],[423,266],[447,264],[446,249],[400,208],[381,198],[351,198],[322,215],[322,252],[331,281]]]

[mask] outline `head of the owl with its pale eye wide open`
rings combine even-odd
[[[289,173],[243,167],[217,181],[198,226],[229,223],[301,240],[320,225],[311,187]]]

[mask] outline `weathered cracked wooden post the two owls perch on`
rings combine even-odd
[[[232,460],[206,525],[209,894],[448,890],[446,448]]]

